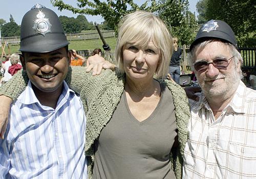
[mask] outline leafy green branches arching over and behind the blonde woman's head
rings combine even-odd
[[[133,0],[77,0],[77,8],[64,3],[62,0],[51,0],[58,10],[70,10],[73,13],[101,15],[104,23],[99,27],[105,30],[117,31],[122,16],[135,10],[158,12],[172,34],[178,36],[181,44],[189,44],[195,37],[195,15],[188,11],[188,0],[144,0],[139,6]]]

